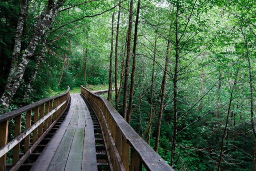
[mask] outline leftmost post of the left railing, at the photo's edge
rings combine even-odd
[[[9,120],[0,123],[0,148],[7,144]],[[0,171],[5,171],[6,154],[0,157]]]

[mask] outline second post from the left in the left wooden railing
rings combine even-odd
[[[21,114],[15,117],[14,138],[21,134]],[[20,143],[13,147],[13,166],[19,161]]]

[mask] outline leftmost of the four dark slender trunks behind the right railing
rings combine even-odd
[[[114,16],[115,13],[112,13],[112,26],[111,26],[111,51],[109,57],[109,91],[107,93],[107,100],[110,101],[111,92],[112,92],[112,55],[113,55],[113,42],[114,42]]]

